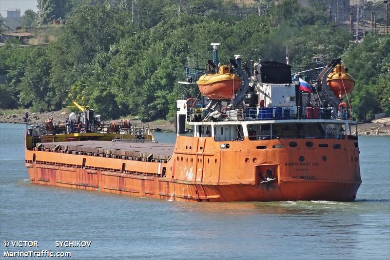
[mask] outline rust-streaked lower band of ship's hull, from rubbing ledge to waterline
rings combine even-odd
[[[360,181],[283,181],[277,187],[249,183],[208,184],[27,164],[31,183],[178,201],[352,201]],[[64,175],[67,175],[65,177]]]

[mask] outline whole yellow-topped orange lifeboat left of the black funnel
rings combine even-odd
[[[234,92],[240,88],[241,80],[230,73],[229,66],[219,67],[218,74],[206,74],[196,81],[200,93],[211,100],[232,99]]]

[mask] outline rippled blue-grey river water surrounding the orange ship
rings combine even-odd
[[[354,202],[191,203],[32,185],[23,131],[0,124],[1,259],[4,250],[102,260],[390,259],[389,137],[359,137],[363,183]],[[15,240],[39,247],[4,247]],[[56,247],[68,240],[92,242]]]

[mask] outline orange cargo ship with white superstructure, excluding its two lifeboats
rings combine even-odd
[[[354,200],[361,184],[356,122],[338,113],[341,100],[319,91],[320,114],[306,118],[305,102],[314,98],[291,81],[289,65],[259,63],[246,75],[231,63],[232,73],[246,77],[235,94],[242,105],[177,100],[175,144],[158,143],[129,121],[96,122],[89,111],[79,132],[27,129],[31,182],[179,201]],[[274,71],[280,67],[283,73]],[[185,122],[192,136],[183,135]]]

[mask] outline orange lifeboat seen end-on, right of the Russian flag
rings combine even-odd
[[[341,98],[342,95],[350,94],[355,86],[355,80],[345,72],[344,65],[338,64],[329,73],[327,83],[335,95]]]

